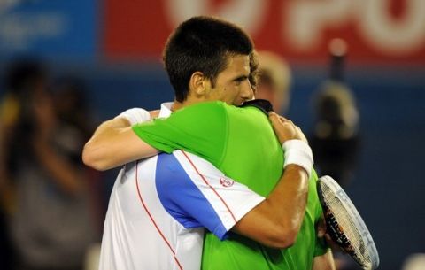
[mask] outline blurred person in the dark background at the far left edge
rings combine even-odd
[[[12,200],[5,204],[15,269],[81,269],[95,236],[80,159],[87,130],[79,124],[79,113],[72,112],[84,110],[76,107],[81,96],[72,100],[58,90],[58,100],[69,100],[55,108],[47,73],[35,60],[14,62],[5,81],[0,176],[5,187],[16,189],[16,207]]]

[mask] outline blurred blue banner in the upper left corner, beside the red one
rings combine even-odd
[[[0,1],[0,55],[93,58],[97,0]]]

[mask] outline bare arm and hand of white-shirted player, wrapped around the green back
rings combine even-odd
[[[289,120],[276,114],[270,120],[281,143],[290,139],[306,142],[300,129]],[[243,216],[233,230],[275,248],[287,248],[295,243],[305,215],[308,173],[305,166],[288,164],[267,199]]]

